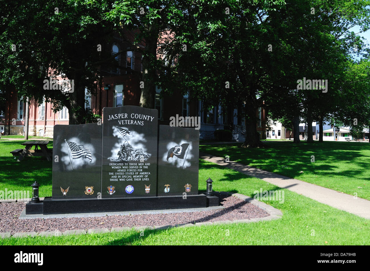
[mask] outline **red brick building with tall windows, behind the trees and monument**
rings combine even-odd
[[[114,41],[106,48],[112,54],[129,47],[129,43],[120,36],[115,35]],[[143,45],[139,45],[144,48]],[[158,57],[161,57],[158,55]],[[142,73],[141,54],[139,52],[128,51],[118,55],[116,60],[120,66],[126,69],[101,70],[101,86],[94,91],[85,89],[85,109],[91,109],[93,114],[102,115],[104,107],[116,107],[122,105],[139,106],[141,89],[140,74]],[[175,63],[174,63],[175,64]],[[57,79],[61,79],[58,77]],[[162,94],[161,89],[156,88],[155,108],[158,109],[159,124],[168,125],[171,116],[196,116],[200,117],[201,138],[213,138],[216,129],[223,129],[224,125],[233,124],[235,127],[245,131],[243,116],[238,115],[238,109],[233,109],[229,114],[223,112],[220,105],[214,105],[210,111],[203,110],[203,101],[191,101],[191,92],[186,95],[174,93],[171,96]],[[31,99],[29,105],[29,128],[28,135],[53,137],[53,127],[56,124],[68,125],[69,115],[67,108],[54,113],[53,104],[46,103],[45,100],[38,105],[38,101]],[[26,104],[23,97],[17,95],[16,89],[7,97],[6,108],[3,110],[4,119],[0,123],[0,131],[11,135],[24,135],[24,115]],[[231,114],[232,113],[232,114]],[[260,133],[260,138],[265,135],[265,109],[256,112],[258,123],[256,127]],[[226,123],[226,119],[228,123]]]

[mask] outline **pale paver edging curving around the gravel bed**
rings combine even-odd
[[[248,203],[251,203],[269,213],[269,216],[266,217],[258,217],[252,219],[238,219],[238,220],[220,220],[215,222],[197,222],[195,224],[187,223],[187,224],[177,224],[175,226],[172,225],[160,225],[160,226],[134,226],[134,227],[112,227],[111,230],[108,228],[90,228],[87,231],[85,230],[66,230],[63,233],[61,231],[41,231],[37,234],[35,231],[33,232],[25,232],[25,233],[14,233],[12,236],[10,232],[0,233],[0,238],[20,238],[20,237],[34,237],[34,236],[68,236],[68,235],[80,235],[80,234],[94,234],[94,233],[113,233],[113,232],[120,232],[120,231],[129,231],[129,230],[167,230],[169,228],[174,227],[192,227],[192,226],[205,226],[205,225],[218,225],[218,224],[234,224],[234,223],[250,223],[250,222],[258,222],[258,221],[265,221],[265,220],[276,220],[280,219],[283,216],[283,213],[271,205],[263,203],[261,201],[255,200],[251,197],[245,196],[243,194],[234,193],[231,194],[229,192],[213,192],[214,194],[221,194],[221,195],[231,195],[234,197],[238,197]]]

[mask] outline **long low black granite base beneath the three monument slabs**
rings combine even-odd
[[[37,205],[36,205],[37,204]],[[218,200],[209,200],[205,194],[159,197],[131,197],[119,199],[63,199],[45,197],[40,203],[27,203],[26,214],[67,214],[119,211],[169,210],[218,206]]]

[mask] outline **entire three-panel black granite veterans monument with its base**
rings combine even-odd
[[[158,126],[157,109],[103,109],[103,121],[55,125],[52,197],[26,214],[218,206],[198,193],[199,130]]]

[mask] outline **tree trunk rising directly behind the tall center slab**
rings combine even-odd
[[[159,37],[159,28],[154,23],[149,28],[149,35],[145,37],[145,52],[142,59],[142,81],[139,83],[141,88],[140,106],[145,108],[154,108],[155,105],[155,78],[157,71],[153,63],[157,59],[157,44]]]

